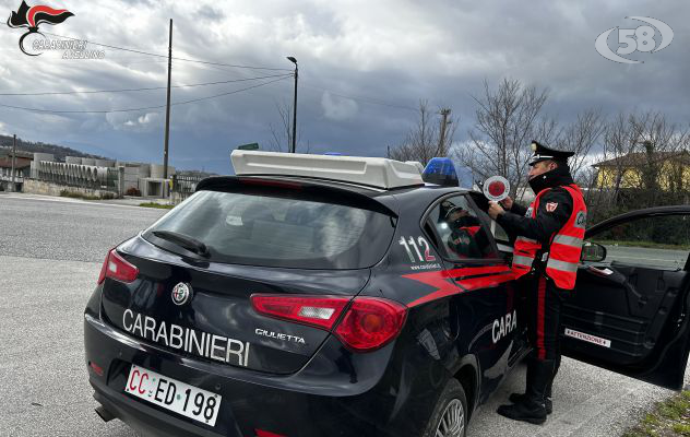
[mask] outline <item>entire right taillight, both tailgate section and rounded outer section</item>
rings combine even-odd
[[[331,331],[350,297],[253,294],[257,312]],[[356,297],[333,331],[350,350],[377,350],[395,339],[405,324],[407,308],[379,297]]]

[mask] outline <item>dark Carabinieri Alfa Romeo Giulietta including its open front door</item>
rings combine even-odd
[[[526,354],[511,241],[441,162],[235,151],[107,255],[84,314],[105,420],[146,436],[463,436]],[[438,164],[438,163],[437,163]],[[455,180],[444,186],[444,179]],[[587,237],[690,206],[643,210]],[[563,353],[680,389],[689,264],[585,244]]]

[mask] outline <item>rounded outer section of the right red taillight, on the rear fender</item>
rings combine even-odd
[[[405,324],[407,308],[378,297],[357,297],[335,335],[358,352],[373,351],[395,339]]]

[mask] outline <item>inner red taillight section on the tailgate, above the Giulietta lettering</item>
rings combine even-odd
[[[349,297],[252,294],[251,304],[262,315],[331,330]]]

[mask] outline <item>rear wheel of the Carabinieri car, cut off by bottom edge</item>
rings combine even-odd
[[[457,379],[451,378],[433,408],[423,437],[464,437],[466,429],[467,398],[465,390]]]

